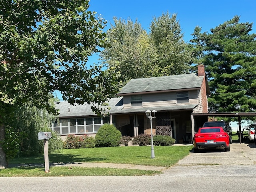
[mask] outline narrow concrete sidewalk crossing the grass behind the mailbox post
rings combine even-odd
[[[117,163],[89,163],[89,162],[75,162],[75,163],[50,163],[49,167],[53,166],[66,166],[66,167],[99,167],[99,168],[118,168],[118,169],[139,169],[139,170],[152,170],[162,171],[168,167],[158,166],[145,166],[133,164],[117,164]],[[44,164],[9,164],[8,168],[12,167],[44,167]]]

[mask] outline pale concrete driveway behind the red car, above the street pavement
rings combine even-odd
[[[203,150],[191,153],[177,165],[255,165],[256,145],[254,143],[230,144],[229,152],[221,150]]]

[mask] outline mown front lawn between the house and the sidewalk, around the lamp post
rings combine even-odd
[[[50,163],[103,162],[148,166],[172,166],[189,154],[193,146],[154,146],[155,158],[151,159],[151,146],[105,147],[64,149],[49,154]],[[44,163],[44,155],[16,158],[9,164]]]

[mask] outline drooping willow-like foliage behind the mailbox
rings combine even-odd
[[[46,109],[38,109],[24,105],[17,108],[15,115],[7,125],[6,130],[12,130],[13,134],[7,134],[9,140],[19,141],[18,155],[31,156],[44,152],[44,144],[42,140],[38,140],[38,132],[50,132],[48,128],[49,122],[54,119],[50,116]],[[6,142],[6,141],[5,141]],[[52,132],[52,138],[48,142],[48,151],[54,152],[62,148],[62,140],[55,132]],[[8,148],[8,152],[10,152]],[[15,150],[16,151],[16,150]],[[17,151],[16,151],[17,152]],[[17,153],[16,153],[17,155]]]

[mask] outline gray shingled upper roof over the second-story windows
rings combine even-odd
[[[131,79],[118,93],[118,95],[138,92],[151,92],[162,90],[176,90],[186,88],[200,88],[204,76],[197,73]]]

